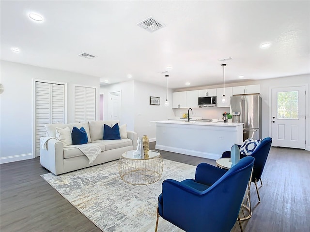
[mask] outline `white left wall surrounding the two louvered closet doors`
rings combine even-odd
[[[1,84],[4,87],[0,95],[1,162],[32,158],[32,79],[67,83],[68,123],[72,122],[73,116],[73,84],[94,86],[99,90],[99,77],[3,60],[0,66]]]

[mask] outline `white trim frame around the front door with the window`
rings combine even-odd
[[[306,134],[305,134],[305,140],[306,140],[306,145],[305,145],[305,150],[310,151],[310,96],[309,96],[309,86],[307,83],[305,84],[297,84],[297,85],[289,85],[289,86],[271,86],[269,87],[269,137],[271,137],[271,121],[272,118],[271,115],[271,91],[273,88],[286,88],[286,87],[305,87],[306,90],[306,97],[305,97],[305,115],[306,115],[306,122],[305,122],[305,127],[306,127]]]

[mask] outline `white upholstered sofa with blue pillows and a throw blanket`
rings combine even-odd
[[[122,138],[119,140],[102,140],[104,124],[110,127],[115,123],[119,123],[119,120],[112,121],[88,121],[84,123],[71,123],[71,124],[46,124],[48,137],[56,137],[56,127],[65,128],[69,127],[72,131],[73,127],[84,127],[88,143],[98,145],[102,152],[97,156],[93,163],[89,163],[89,159],[75,147],[63,147],[60,140],[56,138],[48,139],[43,137],[40,139],[47,140],[47,150],[40,146],[40,163],[43,167],[48,169],[53,174],[63,174],[78,170],[81,168],[90,167],[93,165],[117,160],[121,155],[129,150],[135,150],[137,147],[137,132],[127,131],[128,138]],[[41,144],[41,143],[40,143]]]

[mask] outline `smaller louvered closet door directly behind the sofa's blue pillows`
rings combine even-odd
[[[96,120],[96,89],[75,86],[74,122]]]

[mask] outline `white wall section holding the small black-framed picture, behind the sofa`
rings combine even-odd
[[[170,106],[165,107],[166,88],[139,81],[126,81],[100,87],[100,94],[109,96],[109,92],[122,92],[120,124],[127,124],[128,131],[136,131],[138,136],[147,135],[155,141],[156,127],[152,120],[166,120],[174,116],[171,108],[172,91],[168,89]],[[160,97],[160,105],[150,105],[150,96]],[[108,120],[109,100],[104,97],[104,120]]]

